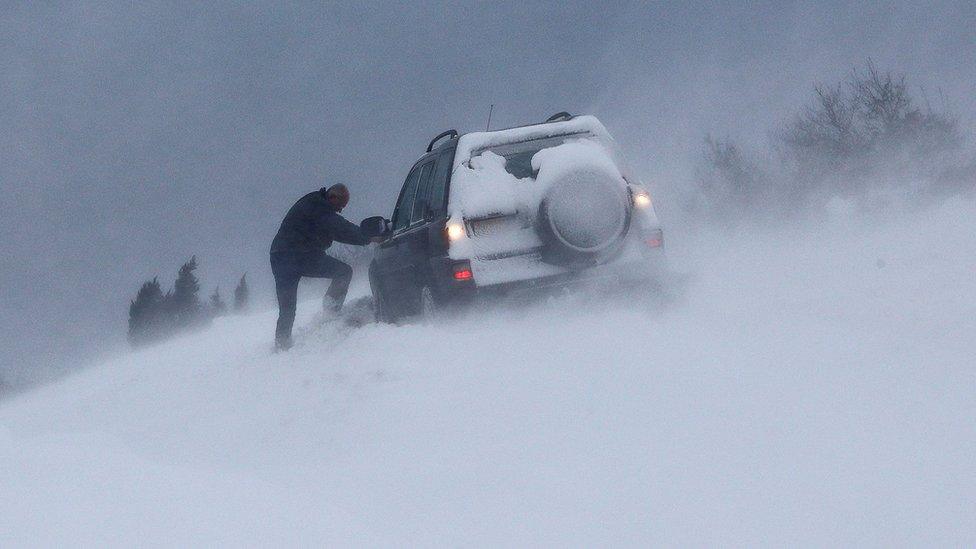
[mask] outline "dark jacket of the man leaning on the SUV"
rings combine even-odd
[[[333,240],[357,246],[369,243],[358,225],[339,215],[325,191],[308,193],[288,210],[271,242],[271,253],[322,252]]]

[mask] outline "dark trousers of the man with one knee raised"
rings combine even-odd
[[[275,342],[288,345],[291,329],[295,324],[295,307],[298,305],[298,282],[303,276],[331,278],[326,297],[332,299],[335,310],[342,307],[352,280],[352,267],[324,252],[273,252],[271,272],[275,277],[278,294],[278,327]]]

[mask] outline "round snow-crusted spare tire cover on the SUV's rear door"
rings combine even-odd
[[[573,170],[554,182],[539,207],[539,232],[557,263],[598,261],[617,248],[630,225],[627,191],[598,168]]]

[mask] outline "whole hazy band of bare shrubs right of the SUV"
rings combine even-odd
[[[923,98],[924,98],[924,94]],[[924,106],[904,75],[870,60],[773,133],[769,154],[751,160],[732,141],[706,137],[696,171],[695,210],[725,223],[816,211],[835,198],[862,208],[898,199],[973,192],[976,159],[958,118]]]

